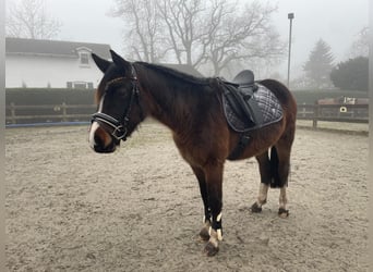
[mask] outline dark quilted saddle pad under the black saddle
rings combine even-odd
[[[282,108],[276,96],[265,86],[260,84],[255,85],[257,88],[253,92],[251,99],[256,101],[257,108],[262,113],[261,123],[254,123],[252,122],[253,119],[248,120],[248,116],[237,114],[229,100],[222,95],[222,106],[227,122],[236,132],[243,133],[257,129],[282,119]],[[250,106],[248,104],[248,107]]]

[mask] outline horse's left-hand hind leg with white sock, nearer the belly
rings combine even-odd
[[[265,151],[264,153],[256,156],[256,160],[260,168],[261,185],[257,200],[251,206],[252,212],[261,212],[262,206],[267,202],[267,194],[272,180],[268,151]]]

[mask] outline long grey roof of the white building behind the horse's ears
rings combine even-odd
[[[39,54],[76,58],[77,49],[80,48],[87,48],[101,58],[110,59],[110,46],[104,44],[24,38],[5,39],[7,54]]]

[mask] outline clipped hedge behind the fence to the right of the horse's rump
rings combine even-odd
[[[296,97],[297,103],[315,103],[318,99],[324,98],[338,98],[338,97],[354,97],[354,98],[368,98],[369,94],[366,91],[360,90],[292,90],[291,91]]]

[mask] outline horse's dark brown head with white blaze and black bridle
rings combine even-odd
[[[104,77],[96,91],[98,111],[93,114],[89,144],[96,152],[113,152],[121,140],[144,120],[136,71],[110,50],[112,62],[92,54]]]

